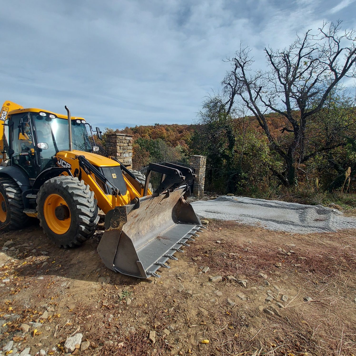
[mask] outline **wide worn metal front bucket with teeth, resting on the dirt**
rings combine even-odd
[[[183,195],[186,187],[136,204],[117,206],[105,217],[98,252],[105,266],[138,278],[159,277],[156,271],[200,231],[201,222]]]

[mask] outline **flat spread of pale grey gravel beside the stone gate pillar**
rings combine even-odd
[[[228,196],[191,204],[201,218],[233,220],[274,231],[306,234],[356,229],[356,218],[347,218],[340,211],[322,205]]]

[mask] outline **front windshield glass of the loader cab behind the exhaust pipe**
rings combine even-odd
[[[34,112],[31,115],[35,122],[37,143],[48,145],[48,149],[41,149],[41,166],[45,169],[53,156],[69,149],[68,120],[58,117],[51,119]],[[72,141],[73,150],[91,152],[87,128],[83,122],[72,120]]]

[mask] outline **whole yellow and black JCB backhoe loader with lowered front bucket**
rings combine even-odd
[[[96,154],[85,120],[5,101],[0,112],[0,229],[26,227],[37,217],[55,244],[73,247],[95,232],[98,210],[105,232],[98,252],[113,271],[148,278],[176,260],[203,227],[185,200],[192,169],[150,163],[147,176]],[[96,133],[101,138],[100,129]],[[151,172],[162,174],[155,192]]]

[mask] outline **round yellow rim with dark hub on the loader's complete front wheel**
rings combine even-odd
[[[43,205],[43,215],[49,229],[54,233],[62,235],[68,231],[72,219],[68,204],[61,195],[48,195]]]

